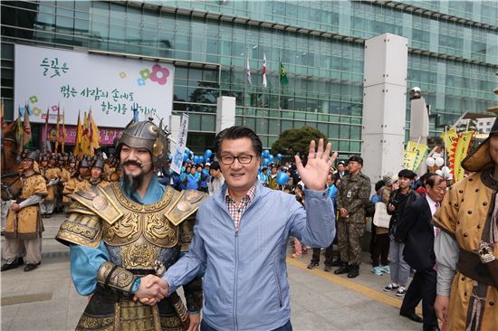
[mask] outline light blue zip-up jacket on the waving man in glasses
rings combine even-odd
[[[254,200],[235,232],[225,203],[226,184],[201,203],[187,254],[164,279],[170,292],[206,270],[203,318],[216,330],[272,330],[291,318],[285,264],[289,235],[312,247],[328,247],[335,212],[328,190],[295,197],[257,181]]]

